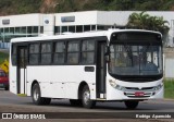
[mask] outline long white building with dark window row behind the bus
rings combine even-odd
[[[59,35],[108,28],[124,28],[128,16],[136,11],[85,11],[52,14],[21,14],[0,16],[0,41],[10,42],[15,37]],[[174,12],[149,11],[150,15],[169,21],[167,47],[174,47]]]

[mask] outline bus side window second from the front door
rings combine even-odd
[[[67,44],[67,63],[77,64],[79,60],[79,42],[69,41]]]

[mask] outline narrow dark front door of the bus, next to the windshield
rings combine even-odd
[[[105,46],[107,41],[98,41],[97,49],[97,98],[104,99],[105,98]]]

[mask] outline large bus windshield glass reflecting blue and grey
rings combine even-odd
[[[159,45],[110,45],[109,72],[116,75],[159,75],[162,73]]]

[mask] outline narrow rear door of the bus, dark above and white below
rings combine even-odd
[[[27,47],[17,47],[17,94],[26,94]]]

